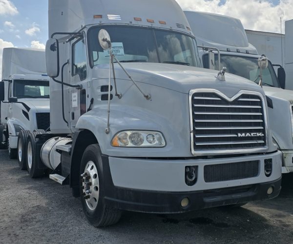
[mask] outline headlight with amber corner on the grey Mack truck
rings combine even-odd
[[[164,147],[163,134],[157,131],[122,131],[112,139],[112,146],[116,147]]]

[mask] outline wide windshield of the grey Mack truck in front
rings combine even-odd
[[[161,62],[199,67],[194,39],[171,31],[149,28],[108,26],[113,54],[121,62]],[[88,32],[90,65],[109,63],[109,52],[99,44],[98,34],[102,27]]]

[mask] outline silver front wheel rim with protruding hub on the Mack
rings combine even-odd
[[[95,210],[100,195],[98,170],[94,162],[89,161],[84,168],[83,193],[85,203],[90,210]]]

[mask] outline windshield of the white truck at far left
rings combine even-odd
[[[15,80],[13,94],[16,98],[49,98],[49,81]]]

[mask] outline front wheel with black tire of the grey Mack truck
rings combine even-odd
[[[80,174],[80,196],[84,214],[95,227],[116,224],[121,218],[121,210],[107,206],[104,200],[104,175],[102,152],[98,144],[88,146],[82,158]]]

